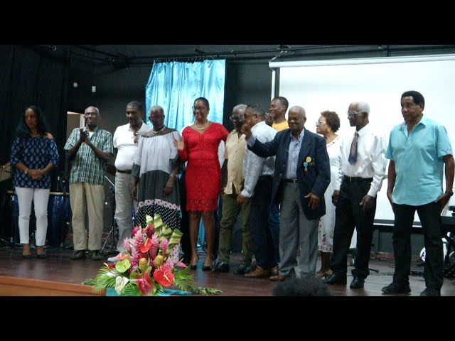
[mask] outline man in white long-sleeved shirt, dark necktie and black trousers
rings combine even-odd
[[[332,202],[335,209],[333,232],[333,254],[330,269],[333,273],[326,278],[328,284],[346,284],[348,250],[357,228],[357,256],[352,271],[350,288],[363,288],[370,274],[371,242],[376,212],[376,196],[385,178],[385,134],[375,131],[368,124],[370,105],[353,102],[348,108],[350,126],[355,126],[353,135],[341,141],[341,172],[338,175]],[[341,185],[339,185],[341,184]]]

